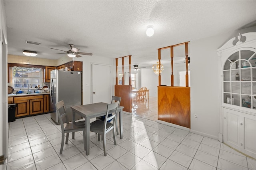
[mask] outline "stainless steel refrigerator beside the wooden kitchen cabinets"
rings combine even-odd
[[[72,121],[71,106],[82,105],[82,72],[81,71],[64,71],[52,70],[50,83],[51,98],[51,119],[60,124],[58,114],[56,114],[55,103],[64,101],[68,121]],[[76,120],[81,119],[78,115]]]

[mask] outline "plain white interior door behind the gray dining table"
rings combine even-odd
[[[111,67],[92,64],[92,103],[110,103],[111,94]]]

